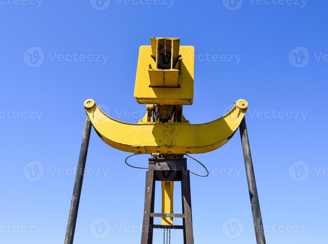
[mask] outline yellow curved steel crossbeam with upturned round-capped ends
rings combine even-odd
[[[227,143],[243,119],[248,103],[238,100],[226,115],[204,124],[131,124],[109,117],[92,99],[86,100],[84,106],[98,136],[116,149],[135,154],[194,154],[210,152]]]

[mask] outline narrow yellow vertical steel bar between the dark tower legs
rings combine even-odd
[[[162,181],[162,214],[173,214],[173,181]],[[173,217],[163,217],[162,225],[173,225]]]

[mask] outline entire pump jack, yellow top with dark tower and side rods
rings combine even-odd
[[[73,244],[92,125],[101,140],[108,145],[133,152],[125,159],[127,165],[148,169],[145,172],[141,244],[153,243],[154,229],[164,229],[164,242],[166,229],[166,243],[170,243],[171,230],[180,229],[183,231],[183,243],[194,244],[190,174],[206,177],[209,171],[204,164],[188,154],[206,153],[221,147],[234,136],[239,127],[256,242],[265,243],[245,122],[248,103],[240,99],[223,117],[204,124],[191,124],[184,117],[182,106],[193,104],[194,64],[194,47],[180,46],[179,38],[151,38],[151,46],[140,47],[134,88],[137,102],[146,104],[143,119],[134,124],[121,122],[106,115],[92,99],[84,102],[88,117],[82,137],[65,244]],[[131,156],[145,153],[152,155],[148,167],[128,164],[127,159]],[[207,175],[198,175],[188,170],[185,156],[202,165]],[[156,213],[154,206],[156,181],[162,184],[161,213]],[[174,182],[181,182],[180,214],[173,210]],[[161,224],[154,223],[154,218],[161,218]],[[173,225],[174,218],[182,218],[182,225]]]

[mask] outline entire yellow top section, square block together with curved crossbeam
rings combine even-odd
[[[180,46],[179,38],[151,38],[151,46],[139,50],[134,97],[147,104],[145,117],[137,124],[106,115],[88,99],[85,110],[98,136],[108,145],[135,154],[195,154],[213,151],[236,132],[248,103],[238,100],[223,117],[204,124],[191,124],[182,105],[194,98],[192,46]]]

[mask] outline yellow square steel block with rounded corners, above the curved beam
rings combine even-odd
[[[152,49],[152,46],[140,47],[134,86],[134,97],[138,103],[193,104],[195,48],[192,46],[177,48],[173,41],[172,50],[174,52],[177,50],[182,58],[180,67],[177,62],[175,66],[171,63],[168,69],[160,69],[157,68],[158,63],[153,58],[154,48]],[[156,55],[158,56],[158,53]],[[168,87],[176,86],[176,79],[178,79],[178,87]]]

